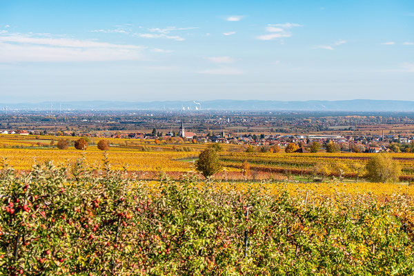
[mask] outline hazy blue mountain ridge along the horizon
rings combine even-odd
[[[414,111],[414,101],[354,99],[345,101],[43,101],[0,103],[1,110],[291,110],[291,111]]]

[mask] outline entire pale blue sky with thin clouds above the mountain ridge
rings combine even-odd
[[[414,100],[414,1],[3,1],[0,102]]]

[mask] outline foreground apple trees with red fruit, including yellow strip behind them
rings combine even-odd
[[[411,197],[0,172],[0,275],[413,275]]]

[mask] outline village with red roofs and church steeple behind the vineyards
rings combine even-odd
[[[297,149],[294,152],[311,152],[312,144],[317,143],[320,150],[331,151],[326,149],[326,144],[333,144],[333,152],[411,152],[413,150],[414,137],[411,135],[310,135],[310,134],[269,134],[269,133],[244,133],[237,135],[233,132],[213,132],[195,133],[187,131],[183,121],[179,124],[179,128],[170,130],[166,133],[157,131],[156,128],[152,132],[45,132],[39,130],[1,130],[2,135],[55,135],[57,138],[70,137],[96,137],[96,138],[112,138],[112,139],[142,139],[157,140],[174,143],[177,139],[181,141],[189,141],[192,143],[219,143],[246,145],[257,148],[257,151],[279,151],[286,150],[289,144],[295,144]],[[277,150],[275,150],[277,148]]]

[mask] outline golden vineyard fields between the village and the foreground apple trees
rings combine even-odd
[[[68,148],[59,149],[57,141],[66,139]],[[72,145],[79,137],[54,137],[34,135],[0,135],[0,155],[16,170],[30,170],[37,162],[73,164],[83,157],[88,164],[101,166],[102,151],[97,148],[101,139],[89,139],[86,150]],[[141,179],[156,179],[164,172],[174,179],[194,170],[193,161],[199,152],[213,144],[197,144],[181,138],[168,141],[150,139],[103,139],[110,145],[108,155],[115,170],[137,173]],[[246,152],[246,146],[221,144],[219,157],[224,170],[215,179],[243,180],[295,180],[302,182],[363,180],[365,166],[375,154],[372,153],[285,153]],[[414,154],[388,153],[402,169],[400,181],[414,181]],[[248,172],[244,168],[248,164]],[[202,177],[200,177],[202,179]]]

